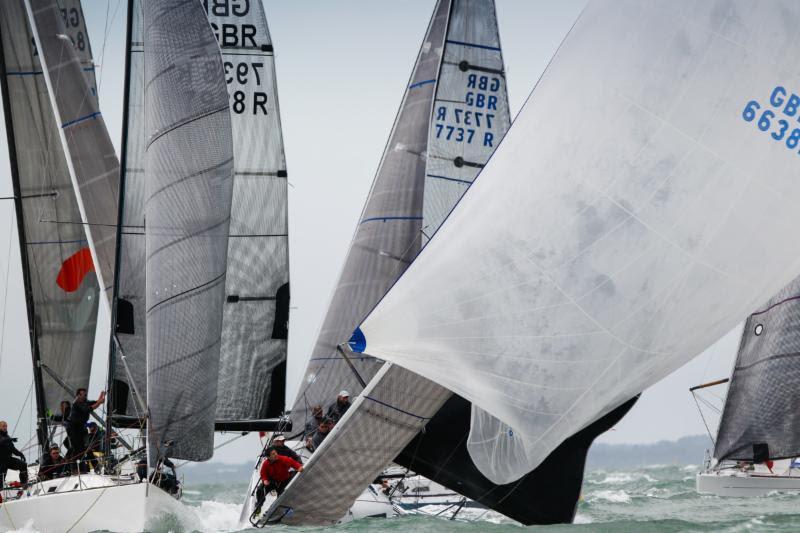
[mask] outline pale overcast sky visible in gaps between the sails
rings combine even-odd
[[[258,1],[258,0],[252,0]],[[434,0],[265,0],[275,46],[289,174],[292,309],[288,404],[298,389],[357,219],[377,169]],[[98,70],[101,111],[119,151],[125,52],[124,0],[83,0]],[[496,0],[512,117],[528,97],[584,0]],[[2,129],[0,124],[0,129]],[[0,195],[11,195],[0,132]],[[30,348],[13,223],[0,201],[0,419],[31,434]],[[10,239],[9,239],[10,237]],[[688,388],[730,374],[739,328],[645,391],[599,442],[647,443],[705,433]],[[101,309],[90,391],[103,387],[108,315]],[[714,391],[724,396],[724,387]],[[24,409],[23,409],[24,406]],[[220,442],[229,436],[220,436]],[[22,439],[20,439],[22,440]],[[248,461],[257,437],[220,448],[214,460]],[[697,458],[698,463],[702,457]]]

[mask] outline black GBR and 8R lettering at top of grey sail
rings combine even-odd
[[[266,39],[252,24],[251,0],[203,0],[214,36],[223,53],[225,81],[231,95],[231,110],[237,115],[266,115],[268,95],[265,85],[265,65],[259,59],[272,53],[272,46],[262,45]],[[232,49],[252,50],[252,55],[231,55]],[[233,86],[231,86],[233,85]]]

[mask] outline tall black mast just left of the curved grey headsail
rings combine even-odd
[[[117,351],[117,298],[119,297],[119,270],[122,250],[122,228],[125,224],[123,212],[125,209],[125,165],[128,158],[128,102],[131,93],[131,31],[133,27],[133,0],[128,0],[128,13],[125,21],[125,81],[122,95],[122,145],[119,155],[119,201],[117,203],[117,246],[114,251],[114,285],[111,289],[111,319],[110,338],[108,341],[108,376],[106,383],[106,453],[111,453],[111,423],[114,414],[114,370]],[[122,413],[125,414],[125,413]]]

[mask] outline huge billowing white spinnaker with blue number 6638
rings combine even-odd
[[[700,353],[800,271],[798,19],[590,3],[366,350],[511,426],[512,479]]]

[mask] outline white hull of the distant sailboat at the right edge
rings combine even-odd
[[[770,492],[800,493],[800,476],[711,470],[697,474],[697,492],[731,497],[764,496]]]

